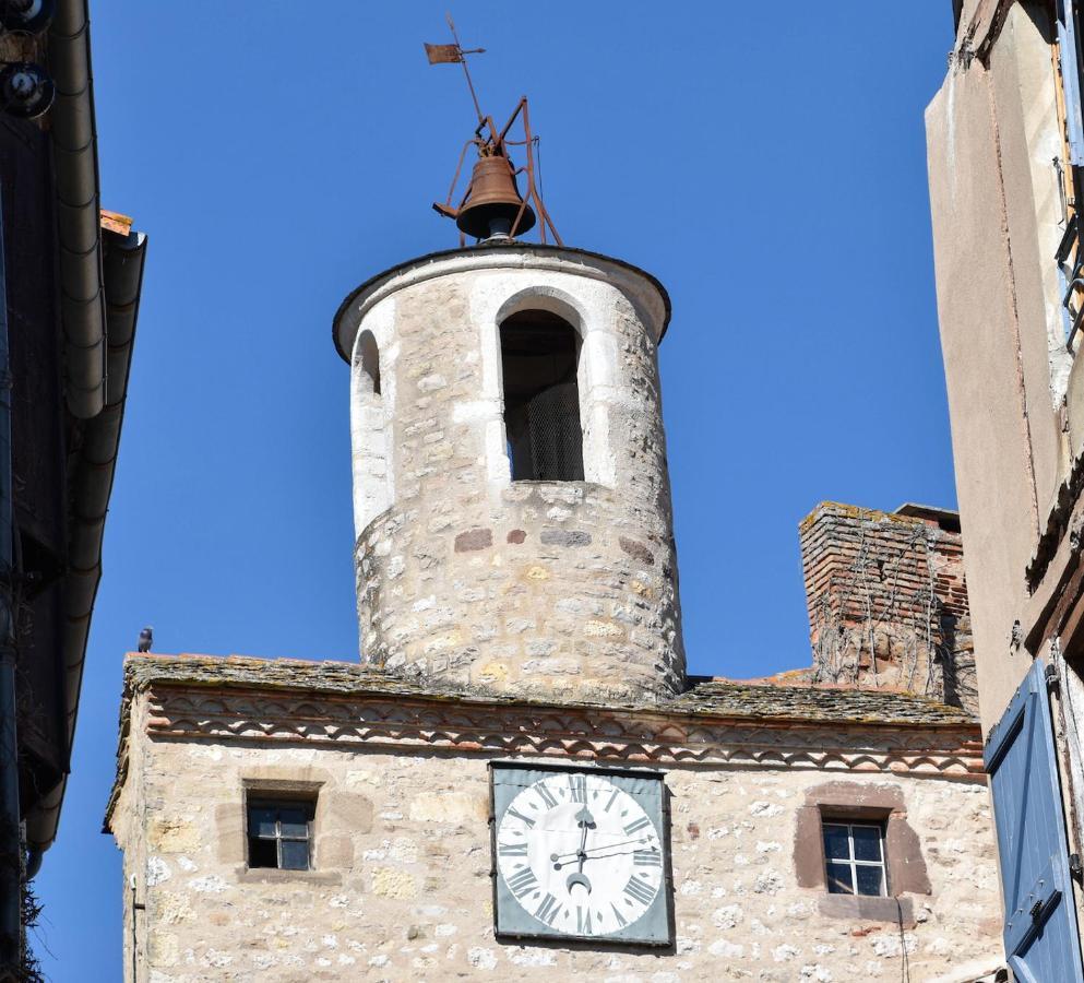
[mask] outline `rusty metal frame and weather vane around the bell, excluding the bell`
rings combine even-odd
[[[475,147],[479,158],[481,157],[503,157],[508,161],[509,169],[512,173],[512,182],[515,183],[515,178],[521,174],[526,176],[526,193],[523,194],[521,199],[520,210],[515,218],[512,222],[512,228],[509,233],[509,238],[514,239],[516,232],[523,224],[524,215],[527,212],[528,205],[534,205],[535,214],[540,220],[538,222],[538,234],[541,242],[546,244],[546,229],[548,228],[550,234],[553,236],[553,240],[558,246],[563,246],[564,242],[561,239],[560,234],[557,232],[557,227],[553,225],[553,220],[550,217],[546,205],[543,202],[541,194],[538,190],[538,168],[535,161],[535,149],[538,145],[539,138],[536,137],[531,130],[531,111],[527,106],[527,97],[522,96],[520,102],[516,104],[515,109],[509,117],[508,122],[498,130],[497,123],[493,121],[493,117],[483,112],[481,106],[478,103],[478,95],[475,92],[474,82],[470,79],[470,70],[467,68],[467,55],[481,55],[485,54],[485,48],[464,48],[460,44],[460,36],[455,31],[455,24],[452,21],[452,15],[446,15],[448,26],[452,31],[452,38],[454,44],[451,45],[429,45],[426,47],[426,55],[429,58],[430,64],[462,64],[463,74],[466,78],[467,88],[470,91],[470,99],[474,103],[475,115],[478,118],[478,126],[475,127],[474,133],[466,143],[463,144],[463,150],[460,151],[460,159],[455,165],[455,174],[452,177],[451,187],[448,189],[448,198],[443,202],[434,201],[433,211],[438,215],[442,215],[445,218],[457,218],[461,211],[467,205],[470,199],[470,193],[473,191],[473,181],[467,182],[466,190],[463,192],[458,200],[458,204],[452,204],[455,199],[455,187],[460,182],[460,175],[463,171],[463,162],[466,159],[467,151],[473,146]],[[519,122],[519,131],[513,133],[513,127]],[[512,139],[513,135],[522,135],[523,139]],[[509,147],[523,147],[524,155],[526,156],[526,164],[522,167],[516,167],[512,161],[511,154],[509,153]],[[460,232],[460,246],[466,245],[466,234]]]

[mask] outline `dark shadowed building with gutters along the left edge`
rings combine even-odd
[[[60,821],[146,251],[99,206],[90,45],[86,0],[0,4],[3,981]]]

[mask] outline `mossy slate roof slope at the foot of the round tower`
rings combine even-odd
[[[154,684],[223,689],[273,689],[324,696],[397,696],[419,700],[472,703],[576,706],[610,710],[727,719],[775,720],[880,726],[978,726],[955,707],[912,694],[838,687],[764,686],[714,677],[690,677],[691,687],[660,702],[614,703],[543,700],[465,691],[405,678],[349,662],[306,662],[228,655],[158,655],[129,653],[124,665],[124,703]]]

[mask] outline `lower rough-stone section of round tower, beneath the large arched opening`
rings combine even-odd
[[[524,696],[678,691],[664,523],[582,483],[516,483],[501,506],[486,525],[462,529],[438,514],[427,531],[393,512],[366,530],[358,591],[367,659]]]

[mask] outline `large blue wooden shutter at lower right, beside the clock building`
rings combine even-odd
[[[1005,955],[1023,983],[1080,983],[1080,936],[1044,663],[990,734],[986,770],[1001,853]]]

